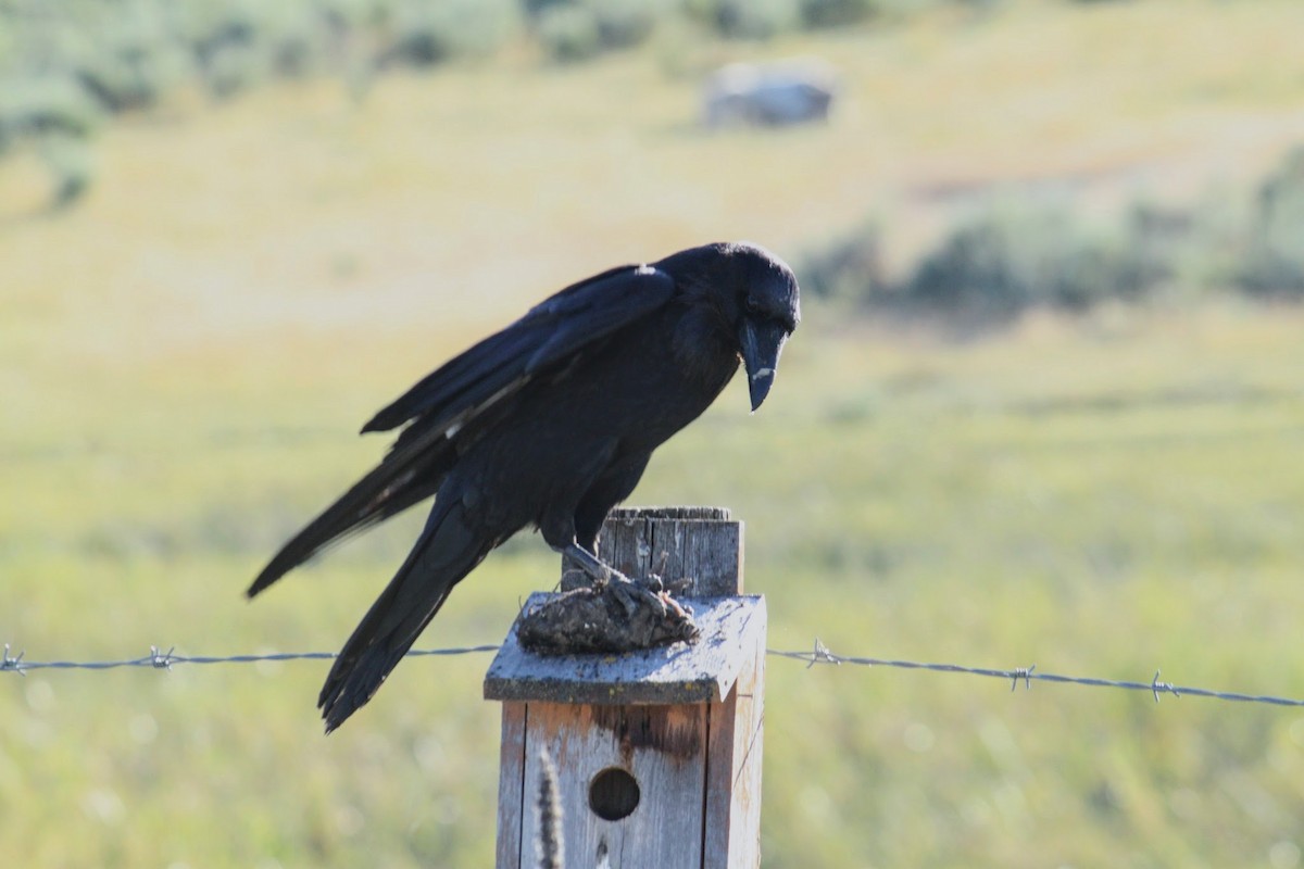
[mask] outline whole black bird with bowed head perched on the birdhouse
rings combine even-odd
[[[797,279],[773,254],[691,248],[567,287],[377,413],[364,433],[408,425],[248,591],[434,495],[412,552],[326,677],[317,701],[326,732],[372,698],[452,586],[527,525],[595,578],[623,578],[596,556],[608,512],[739,358],[760,406],[799,318]]]

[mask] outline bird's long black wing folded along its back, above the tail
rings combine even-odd
[[[572,284],[422,378],[377,413],[363,431],[404,422],[378,466],[287,542],[262,569],[258,594],[325,546],[420,503],[438,491],[456,461],[454,439],[473,435],[490,408],[536,375],[563,367],[602,339],[665,305],[674,280],[648,266],[623,266]]]

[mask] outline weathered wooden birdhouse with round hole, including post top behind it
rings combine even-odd
[[[742,530],[702,507],[621,509],[604,526],[599,554],[627,576],[692,578],[692,645],[545,658],[512,627],[484,687],[503,704],[498,869],[535,866],[542,749],[567,866],[759,865],[765,601],[742,595]]]

